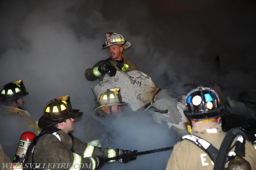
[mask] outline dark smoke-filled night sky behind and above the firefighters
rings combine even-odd
[[[97,81],[84,71],[108,58],[105,34],[117,32],[140,71],[171,93],[210,81],[233,98],[256,92],[255,8],[252,0],[1,1],[0,86],[23,79],[34,119],[63,95],[92,112]]]

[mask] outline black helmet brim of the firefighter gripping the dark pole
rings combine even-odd
[[[55,120],[55,121],[45,119],[45,118],[44,118],[44,115],[43,115],[43,116],[41,116],[40,119],[38,120],[38,127],[39,127],[40,129],[48,128],[48,127],[50,127],[50,126],[53,126],[53,125],[55,125],[55,124],[57,124],[57,123],[60,123],[60,122],[62,122],[62,121],[64,121],[64,120],[67,120],[67,119],[69,119],[69,118],[74,118],[74,119],[76,119],[76,118],[79,118],[79,117],[81,117],[81,116],[83,115],[83,112],[79,112],[79,110],[77,110],[77,109],[72,109],[72,113],[73,113],[73,114],[69,115],[68,117],[66,117],[66,118],[64,118],[64,119]]]

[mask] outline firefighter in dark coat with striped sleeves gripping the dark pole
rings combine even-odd
[[[27,162],[41,165],[45,163],[46,166],[51,163],[66,163],[65,165],[70,164],[72,168],[91,163],[91,168],[95,169],[104,164],[103,158],[131,153],[122,149],[94,147],[74,137],[70,132],[74,130],[75,119],[82,114],[83,112],[72,109],[69,96],[54,98],[48,102],[44,107],[44,115],[38,121],[42,131]],[[130,160],[121,160],[128,161]]]

